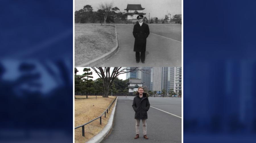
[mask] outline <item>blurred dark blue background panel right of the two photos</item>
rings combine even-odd
[[[183,141],[256,142],[255,2],[183,3]]]

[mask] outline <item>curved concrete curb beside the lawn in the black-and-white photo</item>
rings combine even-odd
[[[112,25],[111,25],[112,26]],[[101,57],[98,57],[96,59],[93,59],[89,62],[86,62],[84,64],[80,64],[80,65],[77,65],[75,67],[93,67],[93,66],[96,66],[100,63],[102,63],[103,61],[107,60],[108,58],[110,58],[112,55],[114,55],[117,50],[118,50],[118,37],[117,37],[117,28],[116,28],[116,25],[115,25],[115,34],[116,34],[116,46],[113,47],[111,49],[111,51],[109,51],[108,53],[105,53],[103,54]]]

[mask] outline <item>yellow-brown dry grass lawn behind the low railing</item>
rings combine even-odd
[[[76,96],[79,99],[75,99],[75,127],[87,123],[97,117],[99,117],[115,99],[115,96],[109,96],[104,98],[102,96]],[[75,142],[84,143],[90,138],[97,135],[108,123],[108,119],[112,112],[112,108],[105,115],[102,116],[102,125],[100,125],[100,119],[97,119],[84,126],[84,136],[82,136],[82,127],[75,129]]]

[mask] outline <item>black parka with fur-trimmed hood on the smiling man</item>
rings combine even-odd
[[[143,97],[139,97],[139,92],[136,92],[137,96],[133,98],[133,110],[135,111],[135,119],[147,119],[147,111],[150,107],[148,101],[148,93],[144,92]]]

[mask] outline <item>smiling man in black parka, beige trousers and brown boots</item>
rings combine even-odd
[[[133,98],[133,110],[135,111],[135,120],[136,120],[136,136],[135,139],[139,138],[139,127],[140,127],[140,121],[142,120],[143,123],[143,137],[148,139],[147,137],[147,122],[146,119],[148,118],[147,111],[150,107],[149,101],[148,101],[148,93],[144,92],[143,87],[139,87],[138,91],[136,92],[136,95]]]

